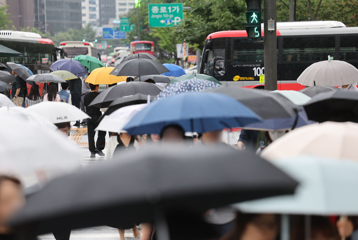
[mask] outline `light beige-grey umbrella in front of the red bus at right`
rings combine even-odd
[[[305,86],[341,86],[358,82],[358,69],[345,61],[328,60],[312,64],[297,82]]]

